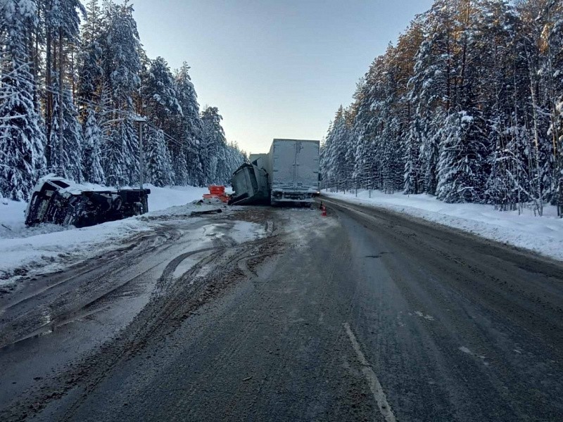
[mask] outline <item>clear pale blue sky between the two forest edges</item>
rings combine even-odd
[[[184,60],[227,140],[321,139],[372,60],[431,0],[134,0],[148,56]]]

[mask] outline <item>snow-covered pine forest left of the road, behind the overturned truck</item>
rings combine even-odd
[[[126,186],[229,182],[246,154],[215,107],[200,110],[189,65],[148,58],[133,7],[113,0],[0,3],[0,197],[37,179]]]

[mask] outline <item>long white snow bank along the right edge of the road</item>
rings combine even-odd
[[[429,195],[388,195],[372,191],[330,193],[324,196],[350,203],[372,205],[404,212],[431,222],[455,227],[472,234],[537,252],[540,255],[563,260],[563,219],[557,218],[557,209],[545,205],[543,217],[535,217],[533,210],[500,212],[492,205],[448,204]]]

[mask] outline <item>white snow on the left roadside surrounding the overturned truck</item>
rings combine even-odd
[[[104,186],[85,184],[91,189]],[[0,200],[0,286],[13,281],[13,276],[25,274],[33,267],[53,271],[65,262],[87,258],[115,248],[115,243],[130,238],[139,231],[153,230],[151,215],[185,215],[186,205],[201,199],[207,188],[172,186],[151,189],[146,215],[75,229],[55,224],[26,227],[26,203]],[[106,188],[107,189],[107,188]]]

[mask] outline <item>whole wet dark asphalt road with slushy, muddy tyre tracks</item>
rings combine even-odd
[[[0,420],[563,420],[562,264],[323,200],[328,217],[167,226],[0,298]],[[267,236],[229,241],[227,224],[185,250],[219,218]],[[94,279],[103,298],[72,296]],[[45,302],[66,307],[57,329]]]

